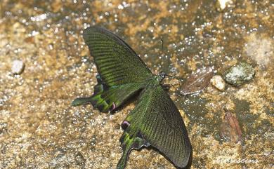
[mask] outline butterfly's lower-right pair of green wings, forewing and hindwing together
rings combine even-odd
[[[140,149],[142,146],[137,140],[141,140],[143,146],[152,145],[176,167],[185,168],[188,165],[192,154],[190,139],[180,112],[162,86],[145,89],[122,126],[124,123],[128,125],[124,127],[120,142],[122,147],[127,147],[125,150],[129,147]],[[125,139],[125,135],[129,135],[131,140]],[[129,152],[124,151],[121,159],[129,156]]]

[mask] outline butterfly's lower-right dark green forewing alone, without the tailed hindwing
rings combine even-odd
[[[153,147],[162,151],[174,165],[188,165],[191,144],[180,112],[169,95],[159,86],[151,93],[150,104],[144,116],[141,133]]]

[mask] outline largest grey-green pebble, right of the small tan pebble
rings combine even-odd
[[[223,79],[231,85],[238,87],[250,81],[254,74],[255,70],[252,65],[247,62],[240,62],[226,70],[223,74]]]

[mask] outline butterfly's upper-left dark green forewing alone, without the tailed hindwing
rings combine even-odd
[[[152,76],[150,69],[119,36],[102,27],[84,30],[97,71],[107,86],[142,82]]]

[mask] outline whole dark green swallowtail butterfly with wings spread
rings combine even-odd
[[[191,164],[192,147],[185,124],[165,91],[164,72],[155,75],[119,36],[93,26],[84,29],[84,41],[98,75],[91,97],[77,98],[72,106],[91,103],[102,112],[113,111],[138,95],[136,107],[122,122],[123,149],[117,169],[126,167],[132,149],[155,147],[178,168]]]

